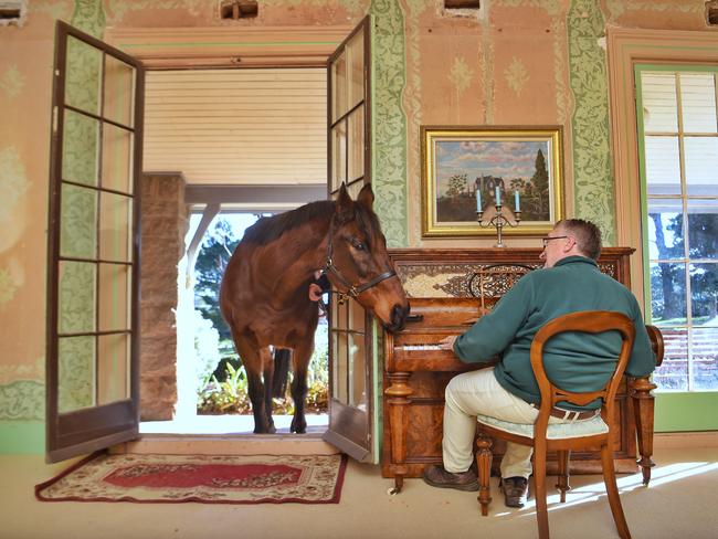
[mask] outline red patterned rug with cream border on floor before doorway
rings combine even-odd
[[[42,501],[338,504],[345,455],[108,455],[35,486]]]

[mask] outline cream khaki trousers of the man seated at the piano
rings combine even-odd
[[[476,414],[526,424],[534,424],[538,416],[538,408],[498,383],[493,367],[454,377],[446,385],[445,398],[442,450],[444,468],[452,473],[466,472],[474,461]],[[563,422],[558,418],[549,419],[549,423]],[[500,465],[501,477],[528,478],[532,451],[508,442]]]

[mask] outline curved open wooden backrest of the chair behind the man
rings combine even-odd
[[[621,334],[621,352],[616,358],[615,370],[606,383],[598,391],[573,393],[556,387],[548,379],[543,366],[543,346],[558,334],[564,331],[581,331],[588,334],[602,334],[604,331],[619,331]],[[551,408],[558,402],[571,402],[577,405],[585,405],[595,399],[603,400],[602,415],[609,421],[612,415],[613,401],[619,384],[623,378],[623,371],[629,363],[635,328],[631,319],[621,314],[610,310],[584,310],[563,315],[546,324],[534,337],[531,344],[531,367],[541,393],[541,408],[536,422],[536,427],[546,429],[548,425]]]

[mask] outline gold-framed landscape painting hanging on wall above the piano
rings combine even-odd
[[[563,218],[562,134],[551,127],[422,126],[422,236],[543,235]],[[478,212],[482,223],[478,223]]]

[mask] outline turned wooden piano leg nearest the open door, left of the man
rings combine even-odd
[[[391,426],[391,465],[389,468],[394,475],[394,489],[398,494],[404,485],[404,475],[408,473],[406,459],[406,406],[413,390],[409,385],[410,372],[388,372],[387,378],[391,385],[384,390],[388,397],[389,424]]]

